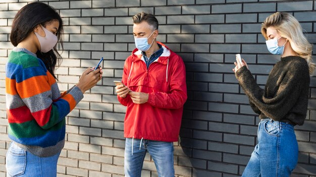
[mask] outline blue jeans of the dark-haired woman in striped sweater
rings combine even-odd
[[[7,177],[56,177],[59,154],[38,157],[12,142],[6,157]]]

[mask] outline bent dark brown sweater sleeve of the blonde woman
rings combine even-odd
[[[242,86],[254,111],[260,111],[273,120],[280,121],[289,110],[295,105],[300,95],[300,85],[306,80],[301,67],[294,65],[280,81],[276,94],[273,97],[266,97],[264,91],[256,84],[252,74],[246,66],[236,72],[236,77]],[[255,111],[255,112],[256,112]]]

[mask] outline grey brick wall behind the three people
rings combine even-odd
[[[0,176],[5,176],[7,136],[5,64],[12,49],[12,20],[29,0],[0,1]],[[113,80],[135,48],[131,16],[145,11],[159,20],[159,40],[183,57],[188,101],[179,142],[177,176],[240,176],[256,144],[258,118],[232,71],[235,54],[249,63],[264,86],[273,64],[260,24],[276,11],[292,13],[316,43],[314,1],[271,0],[104,0],[45,1],[65,23],[63,63],[57,70],[61,90],[75,84],[86,67],[104,57],[103,79],[85,94],[67,120],[67,141],[59,176],[123,176],[125,107]],[[315,57],[316,58],[316,57]],[[296,126],[299,164],[292,176],[316,175],[316,77],[311,77],[305,124]],[[157,176],[147,154],[143,176]],[[2,171],[2,172],[1,172]]]

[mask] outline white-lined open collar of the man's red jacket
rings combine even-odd
[[[167,60],[171,54],[171,50],[163,43],[161,42],[158,42],[158,44],[162,45],[164,51],[162,53],[162,55],[157,58],[155,61],[159,62],[159,63],[162,63],[162,64],[167,64]],[[140,50],[138,50],[137,48],[133,50],[132,52],[132,61],[135,62],[137,60],[141,60],[142,59],[142,52]]]

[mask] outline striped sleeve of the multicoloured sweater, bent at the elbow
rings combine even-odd
[[[80,89],[74,86],[68,93],[52,100],[52,90],[56,91],[54,87],[58,86],[55,78],[41,67],[23,69],[19,77],[23,81],[16,83],[17,93],[43,129],[49,129],[62,121],[83,98]]]

